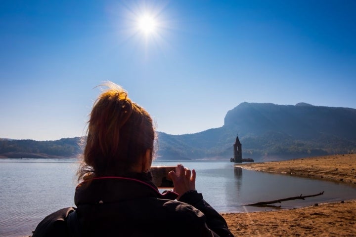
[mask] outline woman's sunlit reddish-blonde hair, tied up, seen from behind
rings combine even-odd
[[[78,181],[131,171],[147,149],[153,156],[152,118],[121,86],[107,82],[90,113]]]

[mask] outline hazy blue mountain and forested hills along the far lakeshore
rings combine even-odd
[[[157,132],[157,159],[225,159],[233,156],[236,135],[243,158],[288,159],[356,152],[356,109],[271,103],[241,103],[228,111],[224,125],[194,134]],[[0,140],[0,155],[74,156],[79,138],[38,142]],[[23,154],[25,152],[25,154]],[[35,156],[36,157],[36,156]],[[38,155],[37,155],[38,157]]]

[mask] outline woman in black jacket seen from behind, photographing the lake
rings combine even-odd
[[[150,115],[109,82],[90,113],[75,204],[37,226],[33,237],[232,237],[223,217],[195,191],[194,170],[178,164],[174,192],[161,194],[149,172],[155,132]]]

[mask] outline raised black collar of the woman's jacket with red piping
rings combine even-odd
[[[74,202],[81,204],[110,203],[134,198],[156,197],[176,199],[177,193],[168,191],[161,194],[151,182],[150,173],[130,173],[125,176],[94,178],[89,186],[85,182],[76,188]]]

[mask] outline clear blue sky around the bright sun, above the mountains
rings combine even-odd
[[[0,0],[0,137],[84,135],[105,80],[169,134],[221,127],[242,102],[356,108],[355,12],[355,0]]]

